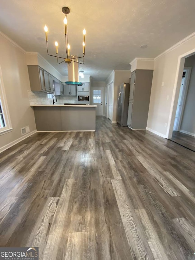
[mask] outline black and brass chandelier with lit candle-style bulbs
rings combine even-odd
[[[69,14],[70,9],[66,6],[62,7],[62,12],[65,13],[65,18],[64,18],[64,34],[65,34],[65,46],[66,46],[66,56],[67,57],[61,57],[58,56],[58,42],[55,41],[55,46],[56,46],[56,55],[51,55],[48,52],[48,27],[45,25],[44,27],[44,31],[45,31],[45,39],[46,39],[46,45],[47,45],[47,53],[49,56],[52,57],[56,57],[57,58],[57,62],[58,62],[58,58],[62,58],[64,59],[62,62],[66,62],[68,65],[71,63],[71,61],[76,62],[76,63],[80,63],[80,64],[84,64],[84,56],[85,56],[85,34],[86,34],[86,30],[83,30],[83,56],[78,57],[77,55],[74,56],[70,56],[70,45],[68,42],[68,30],[67,30],[67,14]],[[71,58],[72,57],[72,58]],[[83,62],[78,62],[79,58],[83,58]],[[62,63],[62,62],[58,62],[58,64]]]

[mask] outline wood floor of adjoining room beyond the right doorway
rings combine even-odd
[[[172,138],[170,140],[192,151],[195,151],[195,137],[192,135],[184,134],[179,131],[173,131]]]

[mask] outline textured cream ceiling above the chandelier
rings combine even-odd
[[[26,51],[39,52],[62,75],[65,63],[56,64],[46,53],[44,25],[48,26],[49,51],[64,55],[64,14],[68,6],[71,54],[82,54],[86,34],[85,64],[79,69],[103,81],[113,69],[130,69],[135,57],[154,58],[191,34],[194,0],[1,0],[0,30]],[[141,49],[146,44],[148,48]]]

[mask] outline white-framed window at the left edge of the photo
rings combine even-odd
[[[0,67],[0,135],[12,130]]]

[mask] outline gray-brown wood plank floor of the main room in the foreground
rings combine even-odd
[[[40,259],[195,259],[195,153],[97,117],[0,154],[0,246]]]

